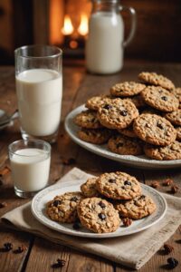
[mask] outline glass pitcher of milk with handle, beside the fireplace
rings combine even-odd
[[[123,65],[124,47],[136,30],[136,12],[133,7],[119,5],[119,0],[92,0],[89,35],[86,41],[86,67],[90,73],[117,73]],[[131,27],[124,41],[122,10],[129,12]]]

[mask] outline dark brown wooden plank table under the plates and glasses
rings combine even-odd
[[[138,177],[139,180],[150,184],[153,180],[162,181],[166,178],[173,179],[177,184],[181,180],[180,169],[176,170],[138,170],[125,167],[116,161],[101,158],[89,151],[85,151],[80,146],[71,141],[63,128],[65,116],[75,107],[81,105],[87,98],[98,93],[108,93],[110,86],[120,81],[137,80],[137,75],[141,71],[156,71],[163,73],[174,81],[176,86],[181,85],[181,64],[160,64],[160,63],[125,63],[121,73],[109,76],[98,76],[87,74],[83,66],[68,66],[63,68],[63,99],[62,99],[62,123],[60,126],[57,144],[52,145],[52,167],[51,182],[55,182],[62,177],[72,167],[76,166],[81,170],[92,174],[100,174],[104,171],[124,170]],[[0,67],[0,108],[9,113],[17,108],[14,88],[14,67]],[[7,146],[10,142],[21,139],[19,122],[14,121],[14,126],[0,131],[0,170],[9,165],[7,158]],[[75,159],[73,164],[69,164],[70,158]],[[0,216],[8,210],[14,209],[30,199],[19,199],[14,195],[13,182],[10,173],[7,173],[0,181],[0,202],[5,202],[7,206],[0,209]],[[160,186],[158,190],[166,191],[167,187]],[[177,192],[176,196],[180,196]],[[12,251],[5,253],[0,251],[0,271],[52,271],[52,263],[57,258],[66,260],[61,271],[84,272],[120,272],[131,271],[126,267],[121,267],[113,262],[90,254],[78,252],[72,248],[62,247],[52,244],[43,238],[33,235],[13,231],[0,226],[0,248],[4,243],[11,242],[14,248],[20,245],[27,247],[21,254],[13,254]],[[174,271],[181,271],[181,228],[168,241],[175,249],[169,256],[176,257],[180,264]],[[157,252],[148,263],[142,267],[141,272],[164,271],[167,257]],[[59,271],[60,269],[56,269]]]

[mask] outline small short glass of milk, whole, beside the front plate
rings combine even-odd
[[[42,140],[14,141],[8,147],[15,194],[33,197],[48,185],[51,145]]]

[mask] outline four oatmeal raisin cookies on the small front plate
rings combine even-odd
[[[124,172],[101,174],[81,185],[81,192],[66,192],[47,203],[50,219],[74,223],[96,233],[116,231],[121,219],[142,219],[156,210],[153,199],[142,194],[135,177]],[[129,223],[130,224],[130,223]]]

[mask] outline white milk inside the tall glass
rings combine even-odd
[[[61,120],[62,75],[51,69],[30,69],[16,75],[20,121],[33,136],[58,130]]]

